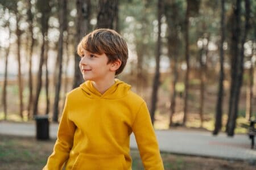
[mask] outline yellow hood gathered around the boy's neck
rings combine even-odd
[[[104,94],[101,94],[90,80],[80,84],[80,87],[85,92],[85,95],[91,99],[120,99],[126,96],[131,89],[129,84],[119,79],[115,79],[115,83]]]

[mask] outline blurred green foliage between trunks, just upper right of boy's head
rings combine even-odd
[[[119,28],[137,56],[154,57],[156,42],[156,1],[129,1],[119,5]],[[144,59],[148,62],[148,59]]]

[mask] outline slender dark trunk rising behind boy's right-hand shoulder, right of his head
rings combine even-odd
[[[156,104],[158,101],[158,87],[159,87],[159,79],[160,79],[160,55],[161,55],[161,18],[162,18],[162,10],[163,5],[162,1],[158,0],[158,41],[156,46],[156,57],[155,57],[155,76],[154,76],[154,82],[152,87],[152,96],[151,96],[151,122],[154,125],[155,121],[155,110],[156,110]]]

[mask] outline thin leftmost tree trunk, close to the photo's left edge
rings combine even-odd
[[[9,37],[8,41],[10,40],[10,35],[11,35],[11,29],[10,29],[10,24],[8,23],[8,28],[9,28]],[[6,88],[7,88],[7,74],[8,74],[8,58],[9,58],[9,53],[10,53],[10,41],[9,41],[9,46],[6,49],[6,54],[5,54],[5,78],[3,79],[3,92],[2,92],[2,104],[3,104],[3,114],[4,114],[4,120],[7,120],[7,99],[6,99]]]

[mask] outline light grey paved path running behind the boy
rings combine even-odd
[[[57,124],[50,125],[51,138],[56,138],[57,127]],[[35,124],[0,122],[0,137],[1,134],[35,137]],[[156,130],[156,136],[164,152],[256,162],[256,150],[250,149],[247,135],[214,137],[205,131]],[[134,135],[131,135],[130,146],[137,148]]]

